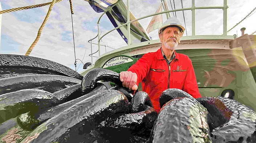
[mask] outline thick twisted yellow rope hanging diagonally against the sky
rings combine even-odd
[[[44,22],[42,23],[40,29],[38,30],[38,33],[37,33],[37,36],[36,36],[36,40],[34,40],[34,42],[32,43],[32,45],[29,47],[29,49],[28,49],[28,51],[26,52],[25,56],[28,56],[28,55],[31,53],[32,49],[34,48],[34,46],[35,46],[36,43],[38,42],[38,40],[39,40],[39,38],[40,38],[40,36],[41,36],[41,32],[42,32],[42,30],[44,29],[44,26],[45,26],[45,24],[46,24],[46,22],[47,22],[47,20],[48,20],[48,18],[49,18],[49,16],[50,16],[50,13],[52,12],[53,5],[55,4],[56,1],[57,1],[57,0],[53,0],[53,1],[52,1],[51,5],[50,5],[50,7],[49,7],[48,13],[46,14],[46,17],[45,17],[45,19],[44,19]]]

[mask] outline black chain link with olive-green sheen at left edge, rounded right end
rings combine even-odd
[[[38,112],[60,101],[50,92],[24,89],[0,95],[0,123],[26,112]]]

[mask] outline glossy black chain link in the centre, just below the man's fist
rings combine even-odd
[[[153,108],[152,102],[146,92],[137,92],[130,104],[130,111],[126,114],[115,114],[104,122],[102,126],[112,127],[115,131],[112,136],[126,134],[122,137],[123,142],[131,143],[146,142],[150,131],[157,118],[157,112]],[[111,142],[118,142],[120,139],[111,138]]]

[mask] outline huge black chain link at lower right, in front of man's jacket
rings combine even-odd
[[[194,99],[178,89],[160,96],[161,110],[148,143],[255,143],[256,113],[226,97]]]

